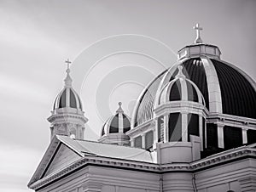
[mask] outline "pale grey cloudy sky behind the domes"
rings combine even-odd
[[[256,79],[256,1],[0,0],[0,191],[26,184],[49,144],[55,96],[73,61],[73,86],[96,140],[118,107],[128,115],[139,93],[195,40]]]

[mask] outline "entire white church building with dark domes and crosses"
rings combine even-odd
[[[131,117],[117,102],[98,141],[84,140],[88,119],[67,67],[48,118],[51,141],[28,187],[255,192],[256,82],[222,60],[216,45],[202,41],[200,25],[194,28],[195,42],[148,83]]]

